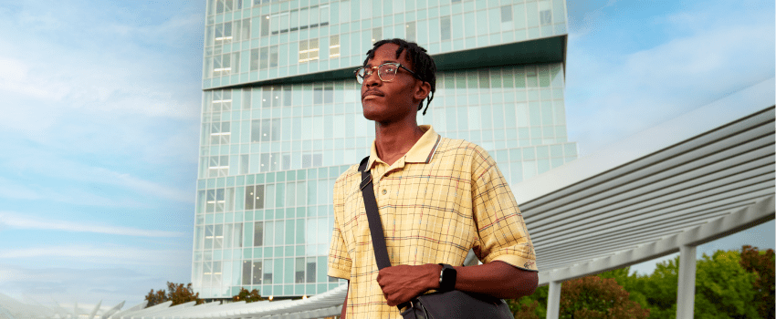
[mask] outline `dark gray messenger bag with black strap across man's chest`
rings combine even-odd
[[[369,221],[369,231],[372,233],[374,259],[377,267],[383,269],[391,266],[388,259],[388,249],[385,246],[383,221],[374,199],[372,174],[366,170],[369,157],[362,160],[359,171],[362,172],[363,203]],[[486,294],[467,293],[459,290],[427,293],[413,300],[398,305],[404,319],[513,319],[509,305],[502,299]]]

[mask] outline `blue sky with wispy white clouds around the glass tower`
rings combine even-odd
[[[581,156],[776,75],[770,0],[567,7]],[[191,282],[203,34],[204,1],[0,0],[0,293],[126,308]]]

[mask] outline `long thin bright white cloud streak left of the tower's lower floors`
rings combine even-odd
[[[28,215],[28,214],[25,214]],[[111,235],[142,236],[142,237],[181,237],[182,232],[165,232],[142,230],[131,227],[100,225],[85,221],[57,221],[25,217],[23,214],[13,211],[0,211],[0,225],[22,230],[46,230],[65,232],[96,232]]]

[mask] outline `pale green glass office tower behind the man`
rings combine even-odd
[[[467,139],[518,183],[574,160],[563,108],[563,0],[208,0],[194,290],[328,291],[334,180],[369,155],[352,71],[402,37],[435,58],[418,123]]]

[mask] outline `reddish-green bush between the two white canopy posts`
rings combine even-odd
[[[630,300],[630,294],[612,278],[587,276],[561,286],[561,318],[634,318],[649,316],[649,310]]]

